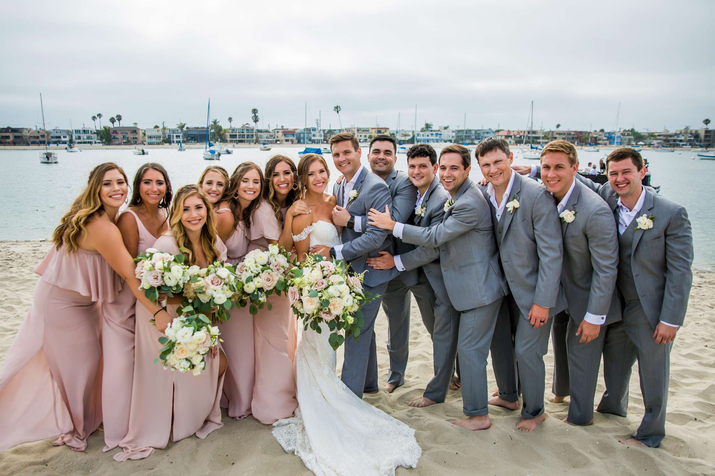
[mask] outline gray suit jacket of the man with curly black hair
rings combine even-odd
[[[448,199],[449,193],[445,191],[444,187],[440,183],[440,179],[435,176],[432,183],[430,183],[429,188],[425,192],[425,198],[422,200],[422,204],[426,208],[425,216],[415,216],[413,213],[414,225],[423,228],[431,228],[433,226],[437,226],[439,223],[442,223],[442,218],[445,216],[445,202],[448,201]],[[407,224],[410,223],[408,222]],[[404,243],[403,240],[400,240],[399,238],[395,238],[395,240],[400,243]],[[440,268],[439,248],[426,246],[415,247],[415,245],[408,243],[405,243],[405,246],[412,247],[412,250],[409,250],[406,253],[398,253],[400,254],[400,260],[402,260],[403,266],[405,267],[403,274],[422,266],[430,285],[432,285],[433,290],[435,290],[435,294],[438,295],[443,303],[450,304],[447,288],[445,288],[445,281],[442,277],[442,268]]]

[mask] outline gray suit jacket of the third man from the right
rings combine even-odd
[[[531,305],[549,308],[549,316],[566,309],[566,296],[561,286],[563,244],[561,225],[553,196],[538,182],[516,172],[508,197],[518,199],[513,213],[504,209],[500,221],[490,206],[496,230],[499,254],[511,294],[526,318]],[[488,203],[487,187],[481,187]]]

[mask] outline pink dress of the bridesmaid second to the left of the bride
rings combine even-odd
[[[216,213],[231,213],[230,208],[220,208]],[[241,223],[226,240],[227,261],[240,263],[246,254],[248,239]],[[230,310],[231,318],[220,324],[223,350],[228,360],[221,406],[235,420],[251,414],[251,400],[255,383],[255,356],[253,348],[253,316],[247,307]]]

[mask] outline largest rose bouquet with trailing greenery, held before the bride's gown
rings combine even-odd
[[[330,329],[328,342],[337,350],[345,338],[355,340],[365,325],[360,308],[378,298],[363,291],[365,273],[348,273],[342,260],[327,260],[321,255],[308,256],[300,267],[290,270],[288,299],[293,313],[303,320],[303,330],[310,326],[321,333],[320,323]]]

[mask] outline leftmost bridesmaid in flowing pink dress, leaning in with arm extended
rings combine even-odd
[[[102,422],[101,306],[117,298],[122,278],[148,313],[170,319],[139,291],[115,225],[126,198],[122,168],[102,163],[55,229],[35,269],[34,302],[0,370],[0,450],[56,435],[53,445],[87,448]]]

